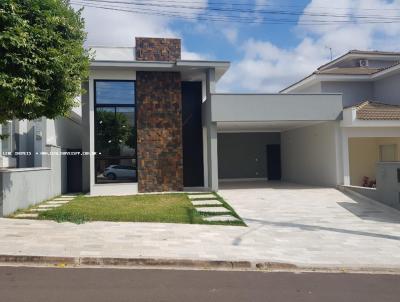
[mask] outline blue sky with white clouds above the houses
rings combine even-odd
[[[118,1],[122,0],[115,0]],[[184,13],[191,20],[86,7],[83,16],[88,45],[134,46],[135,36],[181,38],[185,59],[231,61],[231,68],[217,85],[217,90],[224,92],[277,92],[326,63],[330,59],[329,48],[333,57],[351,49],[400,50],[399,21],[365,24],[363,19],[356,18],[374,15],[400,19],[400,0],[124,1],[173,3],[173,8],[155,6],[153,9]],[[299,15],[291,17],[293,24],[279,25],[199,20],[207,8],[220,7],[216,2],[225,3],[221,7],[227,7],[226,3],[242,3],[248,9],[289,10]],[[176,8],[193,3],[200,9]],[[328,15],[315,17],[315,14]],[[310,24],[316,18],[337,20],[332,14],[342,14],[341,20],[348,22]]]

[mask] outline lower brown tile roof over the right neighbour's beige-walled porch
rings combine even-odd
[[[359,120],[400,120],[400,105],[364,101],[352,107]]]

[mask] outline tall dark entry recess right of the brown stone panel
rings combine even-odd
[[[183,185],[204,186],[201,82],[182,82]]]

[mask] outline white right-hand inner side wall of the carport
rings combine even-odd
[[[282,179],[307,185],[337,185],[341,178],[339,135],[339,122],[282,132]]]

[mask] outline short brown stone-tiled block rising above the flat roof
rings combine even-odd
[[[181,40],[136,38],[136,61],[176,61],[181,58]]]

